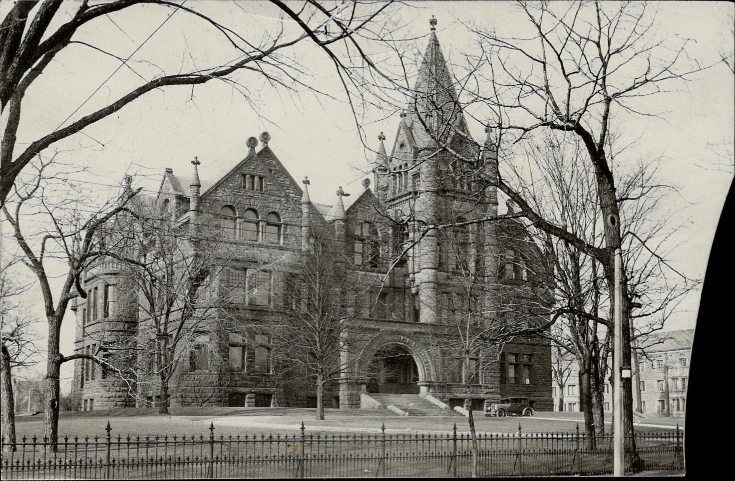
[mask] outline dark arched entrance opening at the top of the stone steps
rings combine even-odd
[[[418,394],[419,370],[411,352],[392,344],[373,355],[368,369],[368,392]]]

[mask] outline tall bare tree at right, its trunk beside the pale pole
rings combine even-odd
[[[640,98],[656,95],[668,84],[686,82],[705,67],[686,55],[691,40],[670,46],[668,41],[650,39],[655,16],[646,4],[517,2],[517,7],[534,35],[503,37],[494,30],[467,24],[478,36],[480,51],[467,56],[468,65],[463,69],[466,73],[460,79],[444,82],[440,92],[423,95],[416,101],[412,115],[431,137],[435,151],[450,153],[484,177],[484,181],[478,182],[480,187],[497,187],[534,227],[595,258],[607,292],[613,292],[613,252],[624,247],[625,233],[621,230],[620,200],[608,151],[611,126],[623,112],[640,115],[645,109],[638,104]],[[477,169],[476,152],[487,148],[467,134],[457,120],[456,109],[451,107],[454,103],[447,107],[447,83],[459,87],[460,95],[487,111],[476,115],[490,118],[487,125],[497,129],[492,148],[503,158],[514,155],[514,145],[539,130],[559,131],[581,140],[585,159],[592,167],[596,203],[602,214],[602,247],[545,218],[504,176]],[[440,113],[432,115],[437,111]],[[457,138],[465,142],[458,142]],[[469,154],[464,148],[467,142],[477,146],[469,149]],[[628,272],[629,268],[625,274]],[[637,306],[632,295],[629,279],[623,275],[620,318],[624,364],[629,364],[631,358],[631,311]],[[612,310],[610,296],[609,303]],[[632,436],[629,379],[623,380],[623,394],[626,466],[639,469]]]

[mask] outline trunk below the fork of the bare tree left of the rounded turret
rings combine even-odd
[[[59,375],[61,372],[61,354],[59,352],[60,318],[47,316],[49,320],[49,343],[46,351],[46,377],[43,379],[43,438],[49,445],[44,449],[56,452],[59,438],[59,399],[61,394]]]

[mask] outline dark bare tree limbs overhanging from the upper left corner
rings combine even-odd
[[[92,4],[89,0],[81,2],[28,0],[15,3],[5,16],[0,29],[0,65],[4,72],[0,82],[0,103],[2,114],[7,115],[0,150],[2,179],[0,203],[5,202],[18,173],[39,153],[43,153],[55,142],[82,132],[87,126],[118,112],[119,109],[152,90],[177,85],[190,86],[193,89],[197,85],[218,79],[231,84],[234,90],[243,93],[248,101],[251,101],[247,87],[249,82],[241,83],[236,78],[237,73],[245,72],[268,82],[276,89],[295,92],[301,87],[308,87],[312,92],[329,95],[321,92],[316,85],[309,86],[304,83],[302,75],[307,69],[298,62],[298,54],[294,53],[294,48],[304,43],[318,46],[323,51],[337,70],[348,93],[349,90],[353,90],[359,95],[360,88],[366,83],[362,81],[363,75],[371,76],[375,73],[376,76],[380,76],[376,65],[363,51],[361,43],[365,38],[385,41],[382,40],[386,33],[383,18],[384,14],[390,12],[392,0],[357,3],[345,0],[333,4],[322,4],[316,0],[305,0],[300,4],[270,0],[274,10],[282,15],[284,20],[295,23],[295,28],[286,29],[284,24],[290,22],[280,22],[273,31],[264,29],[262,32],[251,32],[250,29],[247,34],[237,32],[237,23],[234,26],[224,25],[204,13],[206,9],[201,6],[190,6],[186,3],[168,0],[116,0],[101,4]],[[105,51],[102,41],[95,45],[80,40],[80,32],[84,32],[88,26],[104,21],[105,18],[114,23],[116,14],[135,10],[143,4],[149,8],[170,12],[161,26],[171,16],[178,14],[189,15],[193,21],[213,27],[215,34],[218,35],[217,40],[221,41],[218,50],[226,52],[229,60],[219,65],[197,66],[184,73],[181,69],[173,74],[160,73],[159,70],[157,75],[148,79],[144,76],[144,72],[141,73],[132,67],[129,62],[132,55],[123,59]],[[245,21],[240,23],[252,25]],[[14,155],[15,149],[18,148],[15,142],[18,126],[24,118],[21,115],[23,108],[27,109],[28,104],[34,100],[29,94],[34,91],[30,87],[37,84],[44,73],[48,75],[47,72],[50,70],[48,67],[49,64],[53,64],[52,61],[58,61],[63,58],[63,54],[78,47],[87,48],[90,54],[107,55],[118,59],[121,65],[117,70],[128,68],[143,82],[110,104],[92,109],[87,115],[64,126],[86,102],[82,103],[72,115],[60,123],[57,129],[31,142],[21,153]],[[345,62],[345,58],[356,60],[354,68],[351,63]],[[369,73],[365,73],[364,65],[368,65]],[[383,78],[387,79],[387,76]],[[103,85],[104,83],[100,87]],[[360,88],[351,89],[351,87]]]

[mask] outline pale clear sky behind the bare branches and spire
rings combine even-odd
[[[287,35],[295,32],[293,22],[279,18],[268,2],[188,0],[186,6],[212,15],[248,39],[257,40],[279,26],[284,26]],[[733,48],[731,32],[725,28],[731,4],[670,1],[655,6],[659,12],[652,36],[694,39],[689,54],[702,64],[717,59],[720,46]],[[10,7],[9,1],[0,2],[0,15],[4,17]],[[57,16],[64,21],[71,10],[61,13]],[[221,35],[201,19],[181,11],[167,20],[169,15],[168,8],[135,7],[100,18],[80,31],[75,40],[122,58],[132,54],[131,65],[137,73],[119,68],[117,59],[82,43],[66,48],[29,90],[16,155],[24,142],[68,125],[135,88],[142,82],[138,74],[151,78],[161,69],[174,73],[203,68],[236,56]],[[438,20],[437,36],[451,63],[462,63],[463,54],[476,48],[476,38],[462,22],[474,21],[506,35],[526,33],[523,16],[509,2],[408,2],[392,10],[385,30],[379,33],[387,35],[388,30],[400,26],[394,32],[396,37],[415,39],[404,44],[409,72],[415,71],[410,62],[416,52],[426,46],[431,15]],[[368,43],[366,51],[376,62],[398,65],[398,59],[380,43]],[[368,148],[377,147],[381,131],[389,142],[392,140],[398,113],[368,109],[361,115],[359,121],[368,142],[365,148],[331,62],[306,43],[290,53],[309,70],[301,77],[304,82],[333,98],[287,93],[249,74],[237,77],[247,89],[245,95],[232,84],[218,81],[193,90],[170,87],[146,94],[88,127],[85,134],[59,142],[46,153],[57,150],[62,162],[88,165],[87,173],[77,178],[80,185],[99,195],[111,195],[126,173],[136,174],[137,182],[148,189],[157,187],[165,167],[188,175],[194,156],[201,161],[200,177],[216,180],[243,159],[248,137],[268,131],[270,148],[293,178],[298,181],[309,176],[312,200],[331,204],[337,187],[359,192],[362,179],[371,177],[368,173],[374,153]],[[146,62],[135,62],[139,60]],[[734,101],[733,74],[720,64],[657,95],[655,104],[648,106],[659,112],[659,117],[629,116],[623,125],[625,136],[635,143],[632,154],[661,156],[664,180],[679,187],[671,209],[681,211],[684,226],[676,236],[682,244],[670,257],[692,278],[704,276],[720,209],[732,181],[732,172],[713,166],[732,150],[727,142],[734,137]],[[4,117],[0,121],[4,123]],[[470,122],[470,130],[476,138],[484,137],[478,123]],[[42,317],[39,296],[33,290],[26,301]],[[698,302],[698,292],[689,294],[667,329],[693,328]],[[73,313],[68,314],[62,330],[62,352],[67,354],[73,349]],[[71,363],[62,369],[67,386],[71,369]]]

